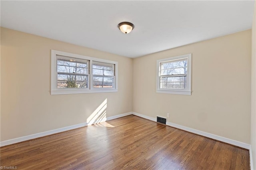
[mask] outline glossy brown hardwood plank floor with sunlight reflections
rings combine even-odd
[[[1,166],[248,170],[249,152],[134,115],[0,148]]]

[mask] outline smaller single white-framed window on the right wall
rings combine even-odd
[[[156,92],[191,95],[191,54],[157,60]]]

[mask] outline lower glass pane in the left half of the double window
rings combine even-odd
[[[88,76],[58,74],[57,88],[87,88]]]

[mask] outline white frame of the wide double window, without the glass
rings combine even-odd
[[[89,61],[88,68],[88,88],[57,88],[58,72],[57,72],[57,55],[64,57],[70,57],[74,59],[82,59]],[[101,62],[114,64],[114,87],[113,88],[94,88],[93,87],[93,75],[92,75],[92,62]],[[79,93],[104,93],[104,92],[117,92],[118,91],[118,62],[110,61],[106,59],[99,59],[94,57],[88,57],[85,55],[79,55],[74,53],[67,53],[63,51],[51,50],[51,95],[63,95],[63,94],[79,94]]]

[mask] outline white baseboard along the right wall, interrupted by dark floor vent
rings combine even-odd
[[[153,117],[148,117],[148,116],[145,116],[145,115],[142,115],[142,114],[139,114],[139,113],[135,113],[135,112],[132,112],[132,115],[136,115],[138,117],[142,117],[142,118],[149,119],[151,121],[156,122],[156,118],[153,118]],[[218,136],[218,135],[215,135],[215,134],[203,132],[203,131],[196,130],[196,129],[193,129],[193,128],[184,127],[182,125],[177,125],[175,123],[166,122],[166,125],[169,125],[169,126],[175,127],[175,128],[179,128],[179,129],[182,129],[182,130],[186,130],[188,132],[199,134],[199,135],[202,135],[202,136],[205,136],[205,137],[208,137],[208,138],[212,138],[212,139],[215,139],[215,140],[219,140],[221,142],[225,142],[225,143],[228,143],[228,144],[239,146],[241,148],[245,148],[245,149],[248,149],[248,150],[250,150],[250,148],[251,148],[250,144],[246,144],[246,143],[243,143],[243,142],[239,142],[239,141],[232,140],[232,139],[229,139],[229,138],[225,138],[225,137],[222,137],[222,136]]]

